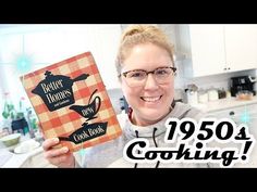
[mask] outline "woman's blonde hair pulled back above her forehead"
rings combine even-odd
[[[122,64],[130,54],[131,49],[134,46],[148,42],[167,50],[174,65],[173,44],[160,28],[154,25],[131,25],[123,31],[120,40],[115,60],[117,72],[119,75],[121,73]]]

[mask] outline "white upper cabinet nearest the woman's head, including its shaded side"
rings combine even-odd
[[[186,53],[186,76],[205,76],[223,72],[224,37],[221,25],[180,25],[178,48]]]

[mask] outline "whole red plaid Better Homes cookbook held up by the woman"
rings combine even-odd
[[[59,137],[60,145],[75,152],[121,136],[90,52],[26,74],[21,80],[45,138]]]

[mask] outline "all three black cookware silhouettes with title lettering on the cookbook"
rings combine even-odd
[[[97,113],[101,106],[100,97],[94,97],[97,89],[91,93],[88,104],[86,105],[72,105],[75,103],[72,86],[75,81],[85,80],[89,75],[82,74],[74,79],[63,75],[52,75],[51,72],[45,73],[46,78],[41,80],[37,87],[32,90],[33,93],[38,94],[50,112],[59,110],[61,107],[71,105],[69,110],[79,114],[83,118],[86,118],[82,127],[70,133],[68,137],[59,137],[62,141],[71,141],[75,144],[85,142],[87,140],[106,135],[108,121],[105,123],[91,123],[88,120],[97,118]]]

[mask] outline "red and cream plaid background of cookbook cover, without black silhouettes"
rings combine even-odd
[[[32,90],[45,79],[46,71],[50,71],[54,75],[70,76],[71,78],[75,78],[81,74],[89,74],[86,80],[79,80],[73,84],[74,104],[88,104],[89,97],[93,91],[97,89],[96,95],[101,99],[100,110],[97,113],[97,118],[91,119],[88,123],[108,121],[106,135],[79,144],[74,144],[70,141],[61,141],[62,146],[66,145],[74,152],[82,148],[93,146],[121,136],[121,127],[118,123],[95,60],[90,52],[85,52],[21,77],[25,91],[37,113],[45,138],[68,137],[85,123],[84,117],[69,108],[71,105],[50,112],[42,99],[38,94],[32,93]]]

